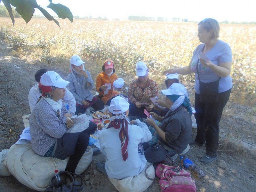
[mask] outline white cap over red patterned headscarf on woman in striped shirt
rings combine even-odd
[[[66,87],[70,82],[65,81],[55,71],[47,71],[41,76],[40,84],[44,86],[54,86],[58,88]]]

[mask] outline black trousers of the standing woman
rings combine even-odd
[[[201,103],[200,94],[195,94],[196,142],[206,145],[206,154],[210,157],[217,156],[219,143],[219,123],[223,108],[228,102],[231,89],[219,93],[218,103]]]

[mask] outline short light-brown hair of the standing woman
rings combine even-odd
[[[217,20],[212,18],[206,18],[198,23],[201,25],[207,32],[212,29],[212,39],[217,39],[220,33],[220,25]]]

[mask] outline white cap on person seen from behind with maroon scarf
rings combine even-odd
[[[111,100],[109,111],[113,114],[124,113],[129,109],[129,102],[120,96]]]

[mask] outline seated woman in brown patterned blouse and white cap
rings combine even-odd
[[[138,118],[146,118],[144,109],[160,114],[154,109],[154,104],[150,98],[158,96],[156,81],[148,78],[148,68],[145,62],[136,63],[136,75],[138,78],[132,80],[128,89],[128,98],[130,102],[129,113]]]

